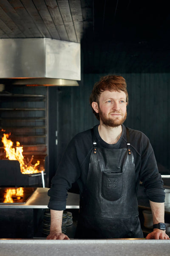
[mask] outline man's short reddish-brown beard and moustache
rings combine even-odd
[[[120,112],[113,112],[113,113],[120,113]],[[122,114],[122,113],[120,113]],[[122,118],[120,119],[120,117],[114,117],[114,118],[109,118],[107,117],[105,114],[103,114],[100,109],[99,109],[99,116],[100,116],[100,120],[102,121],[102,124],[105,126],[110,126],[110,127],[117,127],[119,125],[122,125],[125,120],[126,120],[126,116],[127,116],[127,112],[125,113],[124,116],[122,116]]]

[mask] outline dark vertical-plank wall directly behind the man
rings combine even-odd
[[[165,169],[170,169],[170,74],[116,74],[125,77],[127,81],[129,105],[125,125],[140,130],[149,137],[159,169],[164,174]],[[53,136],[51,134],[49,137],[50,156],[53,159],[51,177],[55,174],[59,160],[71,138],[99,123],[92,113],[89,96],[94,83],[103,75],[107,74],[84,74],[79,87],[49,88],[52,111],[51,117],[49,115],[52,120],[50,129],[53,130]],[[55,129],[58,131],[58,145],[55,145]]]

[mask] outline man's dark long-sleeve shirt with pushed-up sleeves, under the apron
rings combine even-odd
[[[99,135],[98,125],[94,127],[97,146],[104,148],[127,148],[125,125],[122,125],[122,135],[116,144],[108,144]],[[130,147],[133,152],[136,170],[136,192],[139,181],[142,181],[147,197],[153,202],[164,202],[164,188],[161,175],[158,172],[153,148],[149,139],[140,131],[129,128]],[[93,150],[91,129],[77,134],[68,144],[59,163],[56,175],[52,178],[51,189],[48,191],[50,201],[48,207],[54,210],[64,210],[68,189],[77,181],[80,197],[85,186],[88,166]]]

